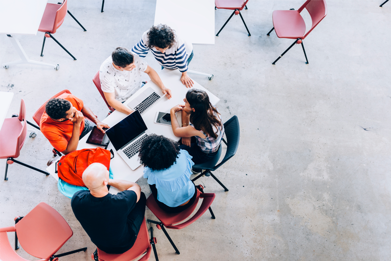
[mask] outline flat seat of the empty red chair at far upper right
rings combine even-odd
[[[274,11],[273,25],[279,38],[298,39],[305,33],[304,19],[297,10]]]

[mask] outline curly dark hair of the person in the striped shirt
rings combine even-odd
[[[171,48],[171,46],[173,46],[175,43],[174,30],[165,24],[152,26],[147,35],[147,47],[150,49],[152,49],[152,47],[158,47],[162,49],[166,47]]]

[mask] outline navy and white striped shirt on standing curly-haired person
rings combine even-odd
[[[156,50],[155,47],[152,49],[147,47],[148,32],[149,30],[144,32],[140,42],[131,48],[132,52],[138,54],[140,57],[145,57],[151,50],[157,62],[163,67],[168,69],[178,68],[180,72],[185,72],[188,70],[187,59],[193,51],[193,45],[191,43],[187,43],[174,34],[175,42],[173,46],[167,49],[165,53],[161,53],[160,51]]]

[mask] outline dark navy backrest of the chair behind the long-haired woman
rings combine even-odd
[[[232,158],[238,150],[240,140],[240,127],[238,116],[234,115],[231,117],[231,119],[224,123],[224,132],[225,137],[227,138],[227,152],[225,152],[223,160],[215,168],[213,168],[212,171],[215,171],[227,160]]]

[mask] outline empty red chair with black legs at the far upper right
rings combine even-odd
[[[312,26],[311,29],[305,33],[305,23],[303,17],[300,13],[303,9],[306,8],[309,15],[311,16]],[[270,33],[273,30],[276,30],[278,38],[288,38],[296,39],[288,49],[286,49],[282,55],[273,62],[273,65],[276,64],[278,60],[287,52],[293,45],[296,43],[302,44],[304,56],[306,63],[308,64],[307,55],[305,54],[303,40],[307,35],[321,22],[327,15],[327,6],[325,0],[306,0],[302,7],[299,10],[290,9],[290,10],[277,10],[273,12],[273,25],[274,27],[267,33],[270,36]]]

